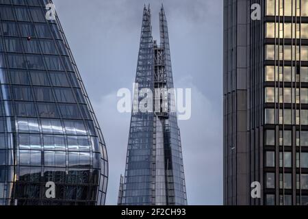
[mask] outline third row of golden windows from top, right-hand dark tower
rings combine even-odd
[[[266,60],[308,61],[308,46],[267,44],[265,47]]]

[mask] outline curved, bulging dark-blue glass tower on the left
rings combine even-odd
[[[105,143],[48,3],[0,1],[0,205],[103,205]]]

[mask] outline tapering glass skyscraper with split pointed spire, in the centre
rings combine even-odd
[[[155,93],[159,88],[173,88],[163,7],[159,12],[159,27],[160,45],[152,38],[151,10],[144,6],[135,93],[151,90],[153,106],[158,106],[159,110],[142,112],[133,104],[119,205],[187,205],[177,114],[171,110],[175,107],[174,95],[172,92],[168,95]],[[137,96],[134,103],[141,103],[141,96],[144,97]]]

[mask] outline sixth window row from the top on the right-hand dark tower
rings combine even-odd
[[[308,110],[266,109],[265,124],[308,125]]]

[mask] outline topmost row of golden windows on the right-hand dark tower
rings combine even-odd
[[[267,16],[308,16],[308,0],[266,0]]]

